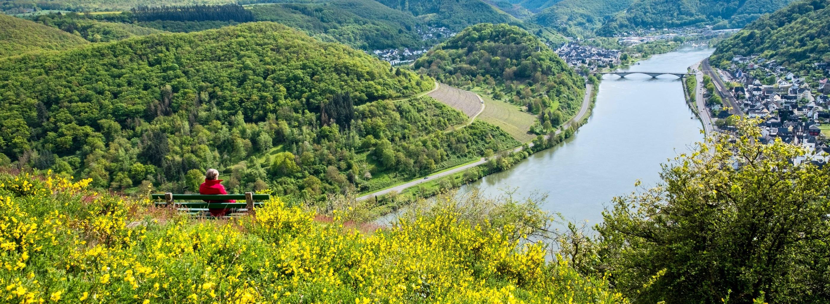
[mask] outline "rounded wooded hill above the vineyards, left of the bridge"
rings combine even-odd
[[[582,103],[584,80],[539,38],[515,26],[482,23],[415,61],[421,73],[446,84],[484,87],[539,115],[539,133],[558,127]]]

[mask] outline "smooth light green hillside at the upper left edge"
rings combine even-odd
[[[0,57],[29,51],[65,50],[88,43],[56,28],[0,14]]]

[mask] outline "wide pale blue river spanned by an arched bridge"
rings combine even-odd
[[[686,72],[712,51],[683,46],[619,71]],[[478,188],[495,196],[518,187],[514,199],[547,194],[545,210],[591,226],[602,220],[614,196],[636,190],[637,179],[642,186],[656,185],[661,163],[703,139],[701,122],[693,116],[674,75],[605,75],[591,117],[574,137],[459,192]]]

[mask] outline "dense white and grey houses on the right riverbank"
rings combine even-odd
[[[827,63],[816,62],[813,68],[822,70],[823,75],[830,75]],[[760,73],[752,73],[759,70]],[[759,80],[754,75],[765,75]],[[735,86],[731,94],[738,100],[739,106],[748,118],[761,118],[761,142],[773,142],[780,138],[806,147],[818,166],[830,161],[824,153],[830,153],[827,137],[822,135],[823,124],[830,124],[830,84],[828,79],[806,79],[779,65],[775,60],[766,60],[759,55],[736,55],[732,59],[730,70],[725,71],[725,78],[741,85]],[[774,79],[774,84],[769,80]],[[812,84],[812,85],[811,85]],[[713,112],[720,110],[713,105]],[[727,111],[717,113],[718,118],[729,117]],[[727,130],[731,127],[725,127]],[[802,162],[799,157],[793,162]]]

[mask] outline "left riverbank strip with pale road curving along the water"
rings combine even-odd
[[[500,171],[510,169],[516,163],[530,157],[535,152],[555,147],[560,142],[571,138],[576,131],[588,122],[597,100],[598,84],[586,84],[585,97],[579,112],[557,129],[553,134],[539,135],[520,147],[496,153],[493,157],[483,157],[480,161],[465,165],[462,170],[453,170],[449,174],[435,173],[426,179],[410,181],[412,186],[389,187],[383,191],[376,191],[369,195],[356,198],[365,201],[369,207],[369,218],[378,218],[392,213],[404,205],[412,204],[416,200],[437,195],[440,191],[447,191],[478,181]],[[442,172],[446,173],[446,172]],[[434,176],[434,177],[433,177]],[[409,184],[407,183],[407,184]],[[401,189],[393,189],[402,187]]]

